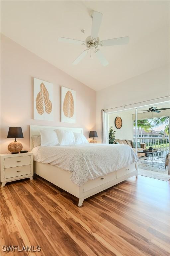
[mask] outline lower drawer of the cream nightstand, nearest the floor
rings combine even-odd
[[[31,165],[25,165],[25,166],[17,166],[17,167],[11,167],[11,168],[5,168],[5,177],[4,179],[9,179],[21,175],[27,175],[31,173]]]

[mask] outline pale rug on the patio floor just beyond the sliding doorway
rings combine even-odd
[[[168,168],[165,171],[151,171],[138,168],[138,175],[146,176],[149,178],[157,179],[157,180],[170,180],[170,175],[168,175]]]

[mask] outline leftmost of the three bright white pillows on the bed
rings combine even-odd
[[[56,133],[53,130],[40,130],[41,146],[59,145]]]

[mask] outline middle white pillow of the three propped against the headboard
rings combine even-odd
[[[75,144],[75,138],[72,131],[56,129],[55,132],[57,133],[59,144],[61,146]]]

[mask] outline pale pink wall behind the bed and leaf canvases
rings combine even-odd
[[[33,77],[53,83],[54,121],[33,119]],[[60,122],[60,87],[76,91],[76,123]],[[20,126],[23,150],[30,148],[30,125],[70,126],[96,129],[96,92],[39,58],[11,39],[1,36],[1,153],[8,152],[9,126]]]

